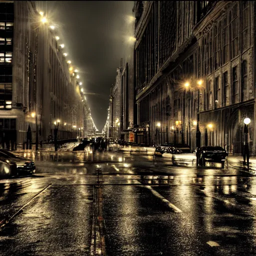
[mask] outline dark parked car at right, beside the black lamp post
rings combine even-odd
[[[219,162],[224,167],[228,153],[221,146],[201,146],[196,150],[196,165],[205,166],[207,162]]]

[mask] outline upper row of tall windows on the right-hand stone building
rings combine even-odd
[[[241,4],[241,18],[238,15],[238,5],[235,4],[228,15],[223,16],[213,30],[202,39],[201,52],[202,63],[198,58],[198,76],[205,76],[225,64],[229,59],[236,57],[241,51],[249,47],[249,3]],[[238,27],[241,23],[241,45],[238,40]],[[200,70],[201,69],[201,70]]]

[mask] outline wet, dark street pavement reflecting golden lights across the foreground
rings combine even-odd
[[[255,255],[256,177],[238,168],[120,152],[25,156],[34,175],[0,180],[0,255]]]

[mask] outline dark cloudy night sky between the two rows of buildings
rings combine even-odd
[[[134,1],[47,1],[38,6],[59,28],[68,59],[79,68],[83,89],[96,127],[101,132],[107,116],[110,86],[120,58],[125,57],[125,36],[132,35]]]

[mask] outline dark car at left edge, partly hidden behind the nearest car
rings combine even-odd
[[[35,172],[34,162],[27,158],[24,158],[22,156],[17,156],[5,149],[0,149],[0,157],[7,159],[11,162],[15,162],[17,166],[16,174],[26,173],[26,172],[29,172],[29,173]]]

